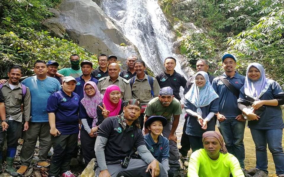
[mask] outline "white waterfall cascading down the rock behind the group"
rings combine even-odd
[[[164,71],[165,58],[176,58],[172,53],[174,35],[157,0],[102,0],[101,8],[138,48],[155,75]],[[178,59],[175,70],[183,74]]]

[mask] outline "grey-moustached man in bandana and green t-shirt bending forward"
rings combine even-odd
[[[175,135],[175,131],[178,127],[178,122],[180,120],[180,114],[182,114],[181,105],[178,99],[173,95],[173,90],[171,87],[164,87],[160,89],[159,96],[153,98],[147,104],[145,109],[145,120],[144,122],[151,116],[163,116],[167,119],[168,123],[163,128],[162,134],[164,137],[168,138],[170,142],[170,170],[168,175],[178,176],[178,170],[180,168],[180,163],[178,160],[180,156],[178,154],[178,146],[177,146],[177,136]],[[172,121],[172,117],[174,117],[174,121]],[[148,133],[145,130],[145,133]]]

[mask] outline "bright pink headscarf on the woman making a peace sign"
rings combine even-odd
[[[110,85],[106,87],[106,92],[104,93],[103,103],[106,106],[106,110],[109,110],[109,117],[110,116],[117,116],[121,109],[121,102],[122,100],[119,99],[117,104],[114,104],[112,101],[110,101],[109,94],[117,90],[121,93],[120,88],[116,85]]]

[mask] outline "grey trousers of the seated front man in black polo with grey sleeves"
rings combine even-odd
[[[146,173],[148,164],[145,163],[142,159],[130,159],[128,167],[122,168],[121,164],[111,164],[106,165],[111,177],[150,177],[150,173]],[[167,172],[164,170],[161,163],[159,163],[160,168],[160,177],[167,177]],[[96,168],[95,176],[98,177],[100,174],[99,167]]]

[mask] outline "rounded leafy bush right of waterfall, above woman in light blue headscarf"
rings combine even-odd
[[[203,33],[186,35],[180,45],[180,53],[188,58],[191,66],[199,59],[209,60],[217,55],[215,41],[208,39]]]

